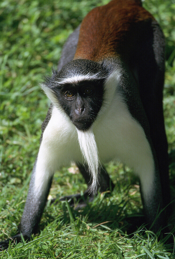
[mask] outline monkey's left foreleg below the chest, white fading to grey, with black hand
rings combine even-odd
[[[21,234],[27,240],[33,233],[37,232],[53,176],[52,171],[49,171],[46,157],[41,153],[40,148],[33,168],[24,212],[18,227],[19,232],[10,239],[0,242],[0,249],[2,250],[8,247],[11,240],[20,242]]]

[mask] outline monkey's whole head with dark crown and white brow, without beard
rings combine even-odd
[[[45,84],[79,130],[87,130],[97,117],[103,101],[106,74],[91,60],[73,60]],[[78,79],[77,79],[78,78]]]

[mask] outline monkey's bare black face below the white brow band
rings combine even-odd
[[[65,113],[79,130],[87,130],[102,105],[102,80],[64,84],[57,98]]]

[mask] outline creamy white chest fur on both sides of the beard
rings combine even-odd
[[[153,155],[143,128],[131,116],[117,92],[118,81],[115,73],[106,81],[106,105],[93,124],[99,159],[102,163],[110,160],[126,163],[143,180],[142,188],[148,192],[154,180]],[[62,166],[68,166],[71,161],[83,162],[77,131],[62,111],[54,107],[43,133],[35,185],[38,186],[40,178],[43,182],[45,177]]]

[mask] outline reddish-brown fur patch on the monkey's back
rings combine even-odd
[[[153,19],[137,0],[113,0],[94,8],[82,21],[74,59],[99,62],[102,58],[132,55],[145,36],[143,27]]]

